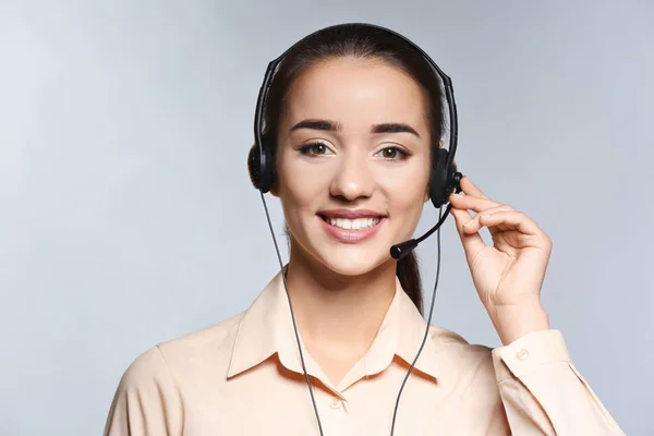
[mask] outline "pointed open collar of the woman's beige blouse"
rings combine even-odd
[[[278,272],[239,322],[228,378],[258,365],[275,353],[287,370],[303,374],[292,323],[283,277]],[[377,336],[360,362],[362,375],[383,372],[396,356],[400,358],[408,368],[421,347],[426,326],[427,323],[396,278],[396,294]],[[300,343],[307,373],[325,379],[301,340]],[[433,378],[438,376],[432,335],[427,336],[415,363],[414,372],[416,370]]]

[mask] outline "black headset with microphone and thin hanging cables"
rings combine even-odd
[[[415,49],[416,51],[419,51],[422,55],[422,57],[425,59],[425,61],[429,63],[429,65],[434,70],[434,72],[436,72],[436,74],[440,77],[440,80],[443,82],[445,98],[447,100],[447,105],[448,105],[448,109],[449,109],[449,123],[450,123],[449,147],[448,147],[448,149],[445,149],[443,147],[438,148],[438,153],[432,161],[432,171],[431,171],[431,175],[429,175],[429,198],[432,201],[432,204],[436,208],[440,209],[444,205],[448,204],[448,198],[449,198],[450,194],[452,194],[453,192],[461,192],[460,182],[461,182],[461,179],[463,178],[463,174],[461,174],[460,172],[457,171],[457,166],[455,164],[455,155],[457,153],[457,141],[458,141],[458,122],[457,122],[457,105],[455,104],[455,92],[452,88],[451,80],[447,74],[445,74],[438,68],[436,62],[434,62],[434,60],[432,58],[429,58],[429,56],[425,51],[423,51],[419,46],[413,44],[407,37],[398,34],[397,32],[393,32],[391,29],[380,27],[377,25],[366,24],[366,23],[339,24],[339,25],[331,26],[331,27],[348,26],[348,25],[352,25],[352,24],[355,24],[359,26],[367,26],[367,27],[376,29],[376,31],[388,33],[388,34],[401,39],[402,41],[407,43],[410,47],[412,47],[413,49]],[[329,27],[323,28],[320,31],[317,31],[316,33],[324,32]],[[311,37],[312,35],[308,35],[307,37]],[[302,348],[300,344],[301,343],[300,336],[298,334],[298,326],[295,324],[295,316],[293,314],[293,306],[291,304],[291,298],[290,298],[290,294],[288,291],[288,283],[286,280],[286,271],[283,271],[283,263],[281,261],[281,255],[279,254],[279,246],[277,245],[277,239],[275,238],[275,231],[272,229],[272,225],[270,221],[270,215],[268,213],[268,207],[266,206],[266,201],[264,197],[264,194],[269,192],[275,183],[275,161],[274,161],[274,157],[272,157],[272,144],[270,143],[270,141],[275,141],[275,138],[266,138],[266,137],[264,137],[264,134],[263,134],[263,128],[264,128],[263,116],[264,116],[264,108],[265,108],[265,104],[266,104],[266,97],[268,95],[268,90],[270,88],[270,84],[272,82],[272,77],[277,71],[277,68],[283,61],[283,59],[289,53],[289,51],[291,51],[294,47],[295,47],[295,45],[291,46],[281,56],[279,56],[277,59],[275,59],[270,63],[268,63],[268,69],[266,70],[266,75],[264,76],[264,83],[262,84],[262,87],[261,87],[259,94],[258,94],[258,98],[256,101],[256,111],[255,111],[255,116],[254,116],[254,140],[255,140],[255,142],[247,155],[247,170],[250,172],[250,180],[252,181],[252,184],[261,193],[262,202],[264,204],[264,209],[266,211],[266,218],[268,220],[268,227],[270,229],[270,233],[272,235],[272,241],[275,243],[275,249],[277,251],[277,258],[279,261],[279,267],[280,267],[280,270],[282,270],[282,272],[283,272],[281,276],[283,279],[283,283],[284,283],[286,291],[287,291],[287,296],[289,300],[289,307],[291,310],[291,318],[293,322],[295,340],[298,342],[298,348],[300,351],[300,361],[302,363],[302,368],[304,371],[304,377],[305,377],[306,384],[308,386],[308,391],[311,395],[311,400],[313,402],[314,412],[315,412],[317,424],[318,424],[318,429],[320,432],[320,435],[323,435],[323,425],[320,423],[320,417],[319,417],[315,398],[313,395],[311,380],[308,378],[308,374],[306,373],[306,366],[304,364],[304,355],[302,353]],[[400,244],[391,246],[390,255],[395,259],[401,259],[403,256],[409,254],[413,249],[415,249],[417,246],[417,244],[420,242],[427,239],[432,233],[434,233],[434,231],[438,230],[440,228],[440,226],[443,226],[443,223],[445,222],[445,219],[447,218],[447,216],[450,213],[450,209],[451,209],[451,204],[448,204],[445,214],[440,214],[438,222],[422,237],[420,237],[417,239],[411,239],[409,241],[405,241]],[[439,232],[439,234],[440,234],[440,232]],[[411,372],[414,367],[414,364],[417,361],[417,358],[420,356],[420,353],[422,352],[424,343],[427,339],[432,314],[434,311],[434,300],[435,300],[435,295],[436,295],[436,288],[438,287],[439,272],[440,272],[440,239],[438,238],[438,267],[437,267],[437,271],[436,271],[436,282],[434,284],[434,295],[432,298],[432,307],[429,311],[429,318],[427,320],[427,328],[425,330],[425,336],[423,338],[423,342],[420,347],[420,350],[417,351],[413,363],[409,367],[409,371],[407,372],[407,376],[404,377],[404,380],[402,383],[400,391],[398,392],[398,398],[397,398],[395,412],[393,412],[393,416],[392,416],[392,426],[391,426],[391,431],[390,431],[391,436],[392,436],[393,429],[395,429],[395,422],[396,422],[398,404],[400,401],[401,392],[404,388],[404,384],[407,383],[407,379],[409,378],[409,375],[411,374]]]

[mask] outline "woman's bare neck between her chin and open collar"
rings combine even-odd
[[[365,352],[395,296],[396,262],[352,277],[298,251],[291,246],[287,282],[302,340],[338,354]]]

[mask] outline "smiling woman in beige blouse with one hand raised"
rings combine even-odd
[[[373,26],[322,29],[286,55],[263,116],[290,259],[247,311],[137,358],[106,435],[622,434],[549,327],[552,244],[528,216],[468,178],[448,198],[497,349],[428,327],[415,257],[389,256],[443,145],[420,51]]]

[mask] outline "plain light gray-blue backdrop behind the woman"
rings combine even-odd
[[[553,238],[552,324],[626,433],[654,435],[653,17],[649,1],[0,1],[0,434],[100,434],[133,359],[247,307],[277,271],[245,167],[265,66],[366,21],[452,77],[461,169]],[[434,322],[496,346],[452,222]]]

